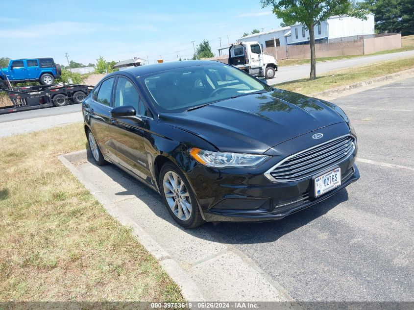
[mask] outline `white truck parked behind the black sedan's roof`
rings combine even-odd
[[[273,56],[266,55],[258,42],[241,42],[229,48],[229,65],[235,66],[253,75],[273,78],[278,71],[277,61]]]

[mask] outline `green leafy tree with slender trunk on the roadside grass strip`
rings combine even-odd
[[[260,0],[262,7],[273,7],[273,13],[285,24],[300,23],[309,29],[311,48],[311,74],[316,78],[315,25],[334,15],[349,15],[366,19],[367,11],[361,10],[353,0]]]

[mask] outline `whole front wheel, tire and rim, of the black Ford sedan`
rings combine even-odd
[[[184,184],[180,185],[181,183]],[[193,229],[204,223],[195,193],[180,169],[171,163],[164,164],[160,171],[159,185],[164,204],[178,224]],[[181,194],[178,188],[181,188]]]

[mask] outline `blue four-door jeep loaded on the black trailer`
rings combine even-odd
[[[60,65],[53,58],[11,59],[7,68],[1,68],[0,79],[6,80],[7,76],[12,83],[39,81],[52,85],[60,74]]]

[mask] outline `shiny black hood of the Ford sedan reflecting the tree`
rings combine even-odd
[[[220,151],[264,153],[297,136],[343,122],[328,105],[283,90],[227,99],[160,121],[189,131]]]

